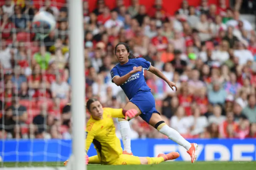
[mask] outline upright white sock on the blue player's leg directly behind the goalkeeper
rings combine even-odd
[[[132,153],[131,138],[130,138],[130,134],[131,134],[130,124],[128,121],[121,118],[118,118],[118,122],[120,124],[120,133],[121,133],[122,141],[124,144],[124,151],[128,153]]]

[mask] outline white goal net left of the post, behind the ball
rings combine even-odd
[[[0,3],[0,169],[66,169],[72,153],[68,1]],[[31,28],[40,10],[57,21],[44,39]]]

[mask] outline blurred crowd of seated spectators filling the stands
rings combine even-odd
[[[156,0],[150,9],[132,0],[126,8],[104,0],[89,12],[84,8],[86,99],[96,97],[104,107],[128,102],[111,82],[117,63],[114,46],[127,42],[134,55],[144,57],[178,86],[150,72],[145,79],[158,111],[185,138],[256,138],[256,34],[240,20],[241,1],[228,8],[225,0],[189,6],[184,0],[171,16]],[[38,10],[51,12],[57,29],[36,41],[31,21]],[[0,138],[70,139],[70,76],[68,9],[45,0],[35,8],[30,0],[0,7]],[[83,114],[83,113],[77,113]],[[87,118],[90,115],[87,114]],[[117,135],[118,123],[116,121]],[[131,138],[165,138],[139,117],[130,121]]]

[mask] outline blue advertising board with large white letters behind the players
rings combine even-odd
[[[198,161],[255,161],[255,139],[198,139]],[[121,142],[122,143],[122,142]],[[166,139],[132,140],[132,152],[136,156],[157,156],[159,153],[177,151],[176,161],[190,161],[182,146]],[[55,162],[64,161],[71,153],[70,140],[1,140],[0,156],[4,162]],[[96,154],[94,146],[88,155]]]

